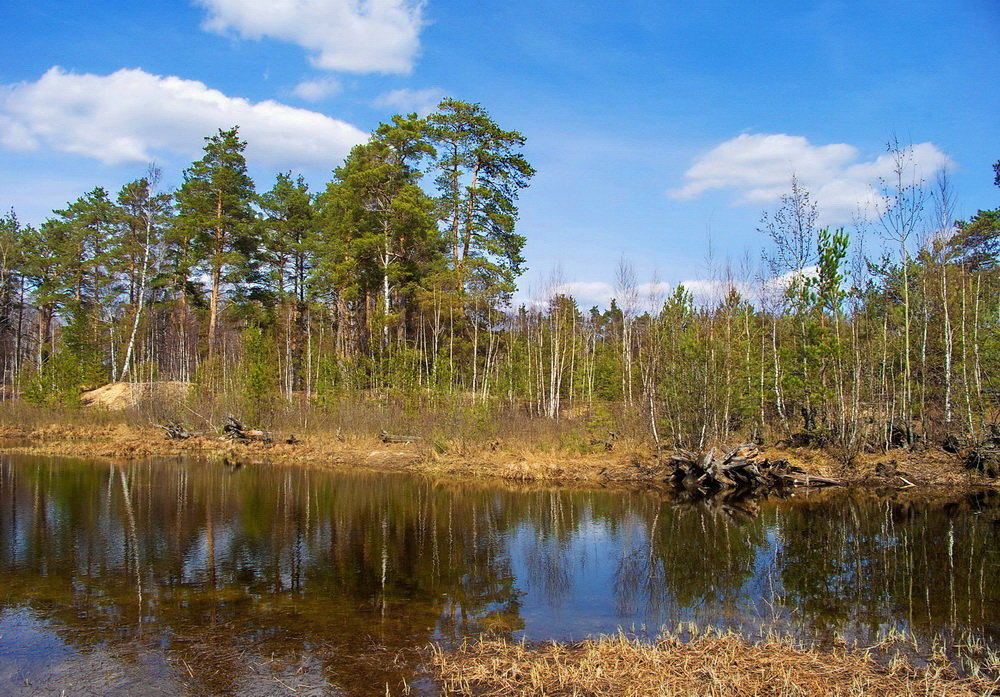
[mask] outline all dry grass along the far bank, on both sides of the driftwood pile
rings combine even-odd
[[[297,400],[282,402],[256,421],[237,412],[248,425],[273,431],[278,441],[270,446],[245,446],[220,441],[216,435],[229,413],[225,400],[199,401],[191,394],[182,399],[185,390],[177,387],[181,383],[164,384],[169,387],[160,390],[160,398],[149,398],[146,391],[136,393],[131,387],[126,393],[115,385],[105,386],[98,390],[104,392],[98,395],[101,399],[94,400],[97,406],[84,409],[0,403],[0,448],[128,459],[227,457],[243,462],[407,469],[511,481],[650,482],[663,481],[669,474],[666,464],[656,462],[642,429],[615,411],[599,418],[581,413],[556,421],[510,405],[475,403],[461,395],[433,399],[352,395],[322,407]],[[112,410],[105,404],[110,400],[117,407],[123,399],[131,406]],[[167,441],[162,431],[148,426],[168,420],[183,422],[205,435],[184,442]],[[378,439],[382,430],[414,435],[419,440],[411,445],[386,445]],[[282,441],[292,434],[300,442],[285,445]],[[866,456],[868,459],[849,469],[812,449],[771,449],[765,456],[788,458],[810,474],[874,486],[899,488],[904,481],[950,486],[1000,484],[1000,480],[990,482],[970,472],[958,458],[940,451]],[[903,479],[876,476],[876,459],[894,463],[890,469]]]

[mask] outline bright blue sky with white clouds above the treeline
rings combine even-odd
[[[1000,203],[1000,4],[621,0],[9,0],[0,22],[0,207],[40,222],[155,159],[177,184],[241,125],[258,186],[321,187],[397,111],[482,103],[528,139],[529,272],[584,303],[622,258],[640,281],[759,257],[792,172],[850,223],[886,173],[948,169],[960,217]],[[360,8],[360,11],[359,11]]]

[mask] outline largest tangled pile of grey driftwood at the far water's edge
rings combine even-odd
[[[841,485],[836,479],[810,476],[788,460],[761,457],[760,450],[752,443],[738,445],[729,451],[712,448],[701,455],[678,451],[670,457],[670,464],[673,466],[672,481],[706,492]]]

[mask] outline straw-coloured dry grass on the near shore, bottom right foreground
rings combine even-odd
[[[528,646],[502,640],[435,650],[431,666],[448,695],[996,695],[1000,668],[959,677],[943,657],[925,667],[885,663],[867,651],[804,648],[771,636],[750,643],[708,632],[689,641],[664,635],[647,644],[619,635],[576,644]],[[992,676],[990,677],[990,672]]]

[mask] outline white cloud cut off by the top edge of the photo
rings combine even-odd
[[[354,73],[409,73],[420,48],[422,0],[196,0],[203,26],[301,46],[313,65]]]

